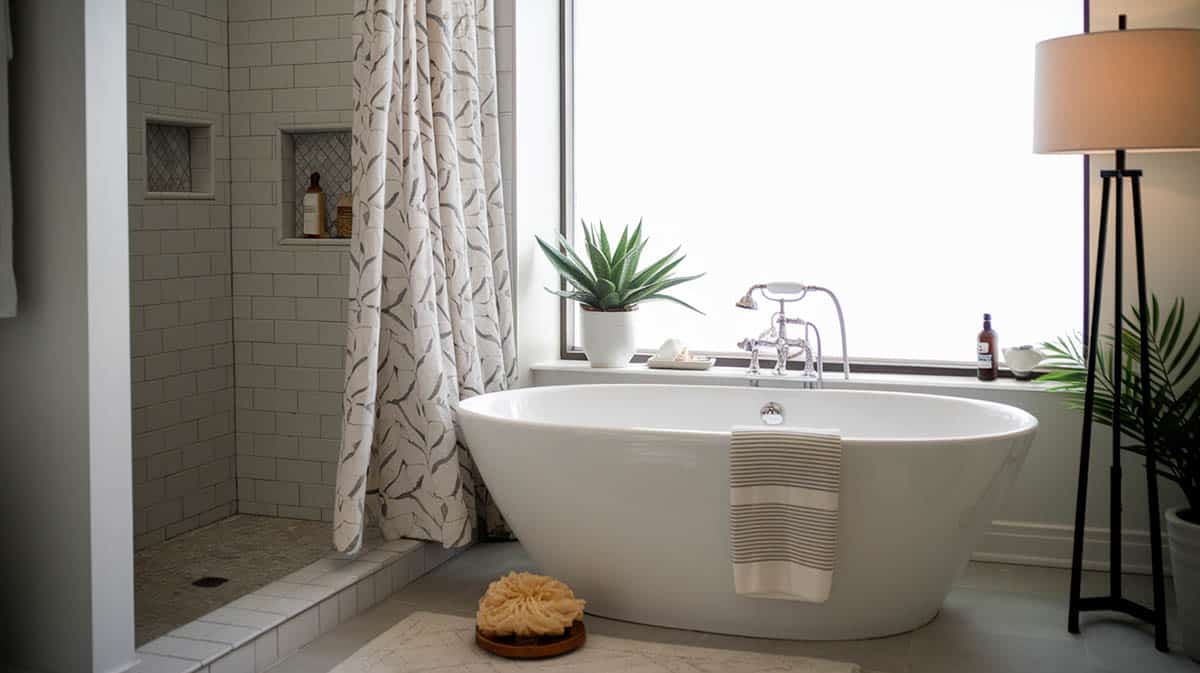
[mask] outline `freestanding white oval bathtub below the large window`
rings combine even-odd
[[[840,428],[838,564],[824,603],[733,591],[728,428]],[[601,617],[797,639],[910,631],[936,614],[1037,428],[989,402],[895,392],[571,385],[462,402],[488,488],[529,555]]]

